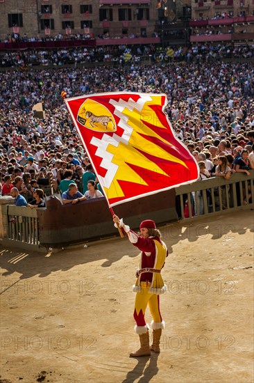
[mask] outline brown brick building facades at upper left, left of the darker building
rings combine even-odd
[[[90,34],[121,38],[152,36],[157,0],[0,0],[0,38]]]

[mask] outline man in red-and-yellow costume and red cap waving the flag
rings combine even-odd
[[[130,243],[141,251],[140,267],[137,270],[137,281],[133,291],[137,293],[135,299],[135,333],[139,335],[140,348],[132,352],[130,357],[144,357],[153,352],[160,352],[160,336],[164,329],[164,321],[160,314],[160,294],[166,291],[166,286],[160,274],[168,255],[167,247],[162,242],[161,233],[156,228],[155,222],[146,219],[140,224],[140,235],[137,235],[129,226],[125,225],[117,215],[113,216],[115,225],[119,225],[128,235]],[[149,326],[146,325],[144,314],[149,305],[153,321],[153,344],[149,347]]]

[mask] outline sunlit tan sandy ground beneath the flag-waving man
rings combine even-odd
[[[51,254],[0,247],[0,382],[253,382],[253,211],[161,231],[166,328],[151,358],[128,357],[139,257],[127,238]]]

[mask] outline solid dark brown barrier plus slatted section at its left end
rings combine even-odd
[[[117,205],[114,211],[132,228],[138,228],[144,219],[164,224],[178,219],[175,201],[176,193],[171,189]],[[7,247],[33,245],[38,250],[119,235],[105,197],[62,205],[59,198],[53,196],[46,201],[46,208],[31,210],[8,206],[4,212],[9,229],[3,244]],[[15,224],[10,221],[14,217]]]

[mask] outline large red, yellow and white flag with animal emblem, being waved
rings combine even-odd
[[[99,93],[65,102],[110,207],[198,179],[164,113],[166,95]]]

